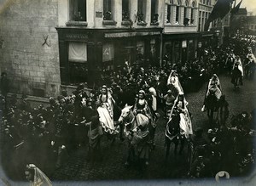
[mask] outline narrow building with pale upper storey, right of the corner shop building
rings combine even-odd
[[[165,4],[163,61],[183,63],[195,58],[198,3],[195,0],[168,0]]]

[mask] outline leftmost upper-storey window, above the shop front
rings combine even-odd
[[[86,0],[69,1],[69,20],[86,21]]]

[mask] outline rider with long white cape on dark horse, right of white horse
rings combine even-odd
[[[171,115],[169,118],[169,121],[172,120],[172,114],[174,112],[178,113],[180,116],[180,122],[179,122],[179,127],[180,127],[180,134],[184,136],[185,138],[189,138],[189,135],[193,134],[193,129],[192,129],[192,122],[190,119],[189,115],[189,110],[187,108],[187,105],[189,103],[184,99],[184,95],[180,94],[177,96],[177,99],[175,99]],[[168,126],[168,125],[167,125]],[[166,135],[168,133],[168,129],[166,130]]]

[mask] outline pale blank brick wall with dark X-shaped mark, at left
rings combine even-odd
[[[8,73],[11,92],[44,90],[39,94],[56,96],[61,84],[58,0],[8,2],[0,10],[0,70]]]

